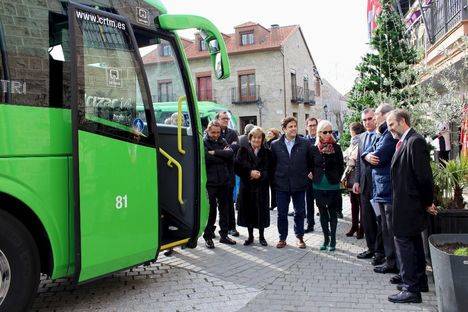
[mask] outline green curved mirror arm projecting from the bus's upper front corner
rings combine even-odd
[[[162,14],[158,17],[158,21],[159,26],[165,30],[198,29],[202,40],[208,44],[211,65],[216,78],[225,79],[231,75],[229,57],[223,36],[209,20],[195,15]]]

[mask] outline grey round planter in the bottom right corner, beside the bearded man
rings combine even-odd
[[[458,242],[468,244],[468,234],[435,234],[429,237],[437,305],[441,312],[468,309],[468,257],[451,255],[436,247]]]

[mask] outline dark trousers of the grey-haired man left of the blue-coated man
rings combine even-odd
[[[371,192],[369,190],[361,193],[361,223],[366,236],[367,248],[374,253],[384,255],[382,235],[379,234],[379,224],[374,208],[370,202]]]

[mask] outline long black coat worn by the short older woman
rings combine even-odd
[[[260,148],[255,155],[252,147],[240,147],[234,161],[235,173],[240,177],[237,197],[237,224],[239,226],[266,228],[270,226],[269,209],[270,151]],[[250,179],[252,170],[260,171],[260,179]]]

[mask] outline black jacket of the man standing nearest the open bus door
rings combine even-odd
[[[205,136],[203,143],[205,144],[206,186],[229,184],[231,179],[229,166],[232,164],[234,152],[222,138],[214,141]],[[215,151],[215,154],[210,155],[208,151]]]

